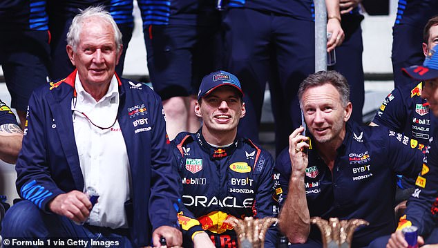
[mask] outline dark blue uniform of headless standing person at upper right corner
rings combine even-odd
[[[403,76],[401,68],[423,64],[424,55],[421,50],[423,28],[435,15],[438,15],[436,0],[399,0],[397,18],[392,27],[391,59],[394,86],[412,82],[411,79]]]

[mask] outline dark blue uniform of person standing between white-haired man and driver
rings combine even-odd
[[[220,64],[220,12],[213,0],[138,0],[149,75],[165,100],[196,95]]]

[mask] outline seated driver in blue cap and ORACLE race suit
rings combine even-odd
[[[188,211],[178,218],[184,247],[237,247],[230,216],[276,216],[272,198],[274,160],[251,140],[240,138],[237,126],[245,116],[237,77],[225,71],[205,76],[200,84],[195,113],[202,118],[197,133],[180,133],[172,141],[182,182],[182,202]],[[209,237],[210,236],[210,237]],[[209,245],[207,246],[205,243]],[[275,227],[265,247],[275,247]]]

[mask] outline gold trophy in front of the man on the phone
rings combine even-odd
[[[361,225],[370,225],[361,219],[339,221],[338,218],[330,218],[327,221],[321,217],[312,217],[310,222],[321,230],[324,248],[350,248],[354,230]]]

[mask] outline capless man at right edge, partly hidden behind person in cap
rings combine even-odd
[[[423,55],[438,44],[438,17],[432,17],[423,29]],[[408,78],[408,77],[406,77]],[[403,133],[417,140],[419,146],[427,146],[432,137],[433,128],[437,125],[437,118],[429,113],[426,99],[421,98],[423,82],[410,79],[409,84],[402,84],[394,88],[383,100],[374,116],[371,125],[387,126],[397,133]],[[414,191],[415,179],[401,178],[397,185],[396,202],[407,200]]]

